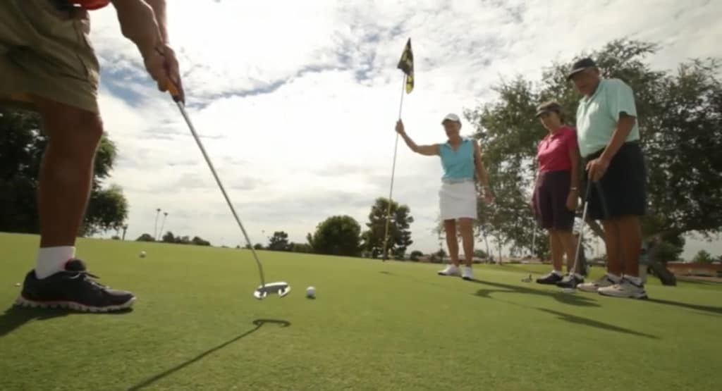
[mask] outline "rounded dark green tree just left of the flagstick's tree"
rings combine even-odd
[[[313,252],[328,255],[360,254],[361,226],[351,216],[331,216],[316,226],[307,240]]]

